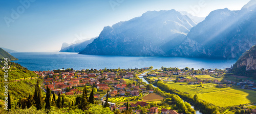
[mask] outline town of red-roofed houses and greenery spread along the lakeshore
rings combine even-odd
[[[146,67],[142,69],[57,69],[53,71],[33,71],[38,76],[44,77],[42,88],[50,88],[52,93],[65,94],[75,97],[82,95],[83,87],[88,92],[94,91],[94,99],[97,104],[104,103],[106,92],[108,93],[111,110],[126,110],[126,102],[130,102],[133,113],[179,113],[179,110],[172,109],[170,105],[163,106],[159,101],[164,102],[166,98],[155,91],[154,85],[158,81],[168,83],[171,87],[179,90],[180,85],[174,83],[186,83],[186,85],[199,85],[202,87],[211,83],[215,88],[230,88],[236,86],[240,89],[256,90],[254,81],[247,79],[224,78],[228,75],[230,68],[221,69],[198,69],[194,68],[164,68],[155,69]],[[145,75],[140,75],[146,73]],[[143,76],[149,83],[143,82],[138,76]],[[227,76],[226,76],[227,77]],[[229,80],[230,79],[230,80]],[[152,84],[150,84],[152,83]],[[181,86],[180,86],[181,87]],[[181,90],[180,90],[181,91]],[[183,90],[186,92],[185,90]],[[187,92],[189,93],[189,92]],[[196,92],[198,94],[200,92]],[[149,98],[150,97],[150,98]],[[169,107],[168,107],[169,106]]]

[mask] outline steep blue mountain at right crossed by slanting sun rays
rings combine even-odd
[[[254,3],[256,0],[250,1],[240,11],[212,11],[169,55],[238,59],[256,44]]]

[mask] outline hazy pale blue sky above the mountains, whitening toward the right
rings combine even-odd
[[[63,42],[90,39],[104,26],[146,11],[240,10],[249,0],[0,0],[0,47],[16,51],[59,51]]]

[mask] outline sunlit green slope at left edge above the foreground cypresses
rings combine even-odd
[[[4,70],[2,67],[4,62],[0,62],[0,86],[4,87]],[[33,94],[35,90],[35,84],[37,81],[37,74],[30,70],[26,70],[25,67],[20,66],[19,64],[8,62],[8,91],[10,92],[12,98],[12,106],[15,107],[19,97],[24,98],[28,97],[29,93]],[[32,79],[31,79],[32,77]],[[25,80],[24,80],[25,78]],[[15,81],[16,80],[16,81]],[[39,78],[41,81],[41,79]],[[0,88],[0,100],[3,100],[5,88]],[[2,102],[0,102],[1,104]]]

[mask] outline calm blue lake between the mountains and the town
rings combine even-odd
[[[12,52],[18,61],[15,63],[27,67],[29,70],[53,70],[61,68],[81,69],[127,69],[153,66],[154,69],[164,67],[178,68],[218,68],[230,67],[236,60],[214,60],[179,57],[158,56],[113,56],[113,55],[82,55],[65,52]]]

